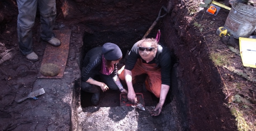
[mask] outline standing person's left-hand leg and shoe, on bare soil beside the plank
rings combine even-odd
[[[36,18],[37,0],[17,0],[17,5],[19,9],[17,20],[19,50],[26,57],[28,55],[28,60],[36,61],[38,56],[32,50],[32,27]]]

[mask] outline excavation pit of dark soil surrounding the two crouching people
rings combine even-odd
[[[8,1],[8,0],[7,0]],[[188,2],[188,1],[187,1]],[[63,4],[64,3],[64,4]],[[0,29],[0,130],[8,131],[222,131],[236,130],[234,117],[223,105],[219,74],[208,57],[203,38],[195,32],[192,18],[183,1],[177,0],[60,0],[57,1],[55,30],[72,30],[69,57],[64,78],[37,79],[40,60],[46,43],[40,40],[40,15],[33,27],[33,50],[38,62],[29,62],[19,53],[17,41],[17,8],[4,2],[9,19]],[[0,5],[2,6],[2,5]],[[111,42],[119,44],[123,54],[130,50],[166,6],[168,14],[160,18],[149,38],[161,30],[160,42],[172,52],[171,89],[159,116],[151,116],[159,99],[151,94],[145,99],[145,111],[131,106],[119,106],[120,92],[107,92],[112,106],[91,106],[90,94],[81,92],[81,64],[85,53],[93,47]],[[13,10],[11,10],[13,9]],[[16,10],[15,10],[16,9]],[[62,14],[67,11],[66,14]],[[224,12],[225,13],[225,12]],[[218,15],[224,15],[219,12]],[[204,11],[195,15],[200,19]],[[206,15],[206,14],[204,14]],[[13,18],[13,19],[12,19]],[[15,19],[16,18],[16,19]],[[212,20],[212,18],[208,18]],[[0,22],[2,20],[0,19]],[[7,41],[7,42],[6,42]],[[2,44],[5,43],[5,44]],[[4,48],[2,48],[4,45]],[[13,49],[14,48],[14,49]],[[15,57],[12,57],[14,54]],[[7,60],[8,57],[12,59]],[[123,56],[124,57],[124,56]],[[122,62],[120,62],[121,66]],[[138,87],[141,87],[138,83]],[[17,104],[16,99],[36,88],[45,94],[38,100]],[[140,92],[138,88],[138,92]],[[104,97],[104,96],[103,96]],[[87,100],[86,100],[87,99]],[[151,101],[151,100],[149,100]],[[111,103],[111,104],[112,104]],[[88,104],[88,105],[87,105]]]

